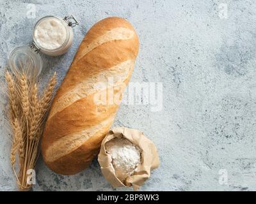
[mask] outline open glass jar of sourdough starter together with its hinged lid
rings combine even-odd
[[[44,22],[46,23],[42,24]],[[10,69],[15,75],[25,74],[28,78],[37,78],[43,66],[42,58],[38,53],[58,56],[67,52],[74,38],[72,27],[76,25],[78,22],[72,15],[65,18],[54,16],[41,18],[34,27],[31,45],[17,47],[10,54]],[[38,26],[41,26],[40,29]]]

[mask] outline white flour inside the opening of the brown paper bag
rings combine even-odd
[[[106,152],[111,154],[116,177],[124,181],[141,163],[141,150],[125,138],[114,138],[106,143]]]

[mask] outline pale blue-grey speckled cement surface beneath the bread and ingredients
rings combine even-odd
[[[35,18],[26,14],[29,3],[35,5]],[[227,18],[220,16],[220,3],[227,3]],[[8,55],[29,43],[36,20],[67,14],[76,15],[81,23],[74,28],[74,45],[61,57],[43,56],[42,82],[57,71],[60,84],[86,31],[113,15],[129,20],[140,36],[131,81],[163,82],[163,110],[151,112],[150,105],[122,104],[113,124],[140,129],[157,145],[161,166],[141,190],[256,190],[253,0],[0,0],[1,83]],[[15,190],[6,95],[0,94],[0,190]],[[40,158],[33,190],[113,189],[96,160],[90,168],[67,177],[53,173]]]

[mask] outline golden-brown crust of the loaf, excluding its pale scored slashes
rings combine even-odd
[[[124,40],[118,38],[118,40],[104,41],[101,44],[98,43],[99,45],[97,44],[97,40],[100,39],[100,36],[119,27],[129,29],[129,31],[131,30],[134,34],[131,38],[129,36],[129,38]],[[115,38],[114,34],[109,39]],[[84,54],[84,50],[95,41],[97,47],[93,47],[92,50],[89,50],[89,52],[86,51],[86,54]],[[77,50],[74,61],[52,101],[49,115],[51,115],[51,112],[53,115],[47,119],[44,135],[42,136],[42,156],[51,170],[63,175],[72,175],[86,168],[91,163],[93,157],[98,154],[100,143],[108,132],[113,122],[113,115],[115,115],[118,109],[118,105],[116,104],[97,105],[94,103],[93,96],[95,92],[97,93],[99,90],[95,90],[95,92],[90,94],[88,93],[86,97],[78,99],[74,103],[65,106],[63,110],[55,113],[56,105],[61,102],[58,100],[61,100],[63,94],[74,89],[77,84],[86,80],[86,78],[93,77],[93,75],[100,73],[100,71],[104,69],[111,69],[121,62],[127,60],[135,61],[138,54],[138,46],[138,36],[132,28],[132,25],[118,17],[105,18],[97,22],[97,24],[93,25],[90,31],[88,31],[86,36],[84,36],[84,40]],[[132,68],[129,69],[128,76],[123,82],[124,84],[117,86],[119,89],[115,94],[120,94],[124,91],[124,85],[127,85],[129,82],[131,73]],[[56,101],[58,101],[58,103],[56,103]],[[107,122],[103,127],[99,128],[97,124],[100,124],[103,120]],[[95,131],[93,131],[94,134],[85,142],[79,144],[72,152],[68,152],[55,161],[51,161],[51,159],[47,158],[49,156],[49,154],[46,153],[47,149],[63,136],[72,135],[72,133],[93,127],[97,127],[98,129],[95,129]],[[59,151],[58,147],[56,147],[54,151]]]

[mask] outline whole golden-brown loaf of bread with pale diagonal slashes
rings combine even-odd
[[[41,150],[52,171],[73,175],[99,153],[131,77],[139,41],[129,22],[110,17],[88,31],[52,101]]]

